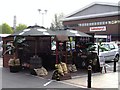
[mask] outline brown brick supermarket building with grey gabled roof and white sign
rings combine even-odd
[[[105,41],[120,38],[118,4],[92,3],[66,16],[63,24],[84,33],[107,36]]]

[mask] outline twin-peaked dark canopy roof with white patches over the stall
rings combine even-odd
[[[51,30],[40,26],[29,26],[28,28],[15,32],[11,36],[72,36],[72,37],[91,37],[88,34],[72,29]]]

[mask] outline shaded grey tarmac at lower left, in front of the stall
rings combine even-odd
[[[35,77],[28,73],[10,73],[9,69],[2,69],[2,88],[77,88],[76,86]]]

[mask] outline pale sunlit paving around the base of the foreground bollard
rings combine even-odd
[[[92,88],[118,88],[118,72],[105,74],[97,73],[92,76],[91,81]],[[65,80],[64,82],[87,87],[87,75]]]

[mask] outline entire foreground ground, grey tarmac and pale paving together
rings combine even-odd
[[[117,72],[93,73],[91,80],[92,90],[120,90],[119,63]],[[87,90],[87,74],[72,76],[72,79],[69,80],[53,81],[47,78],[33,76],[26,72],[10,73],[9,68],[2,68],[1,65],[0,60],[1,88],[73,88]]]

